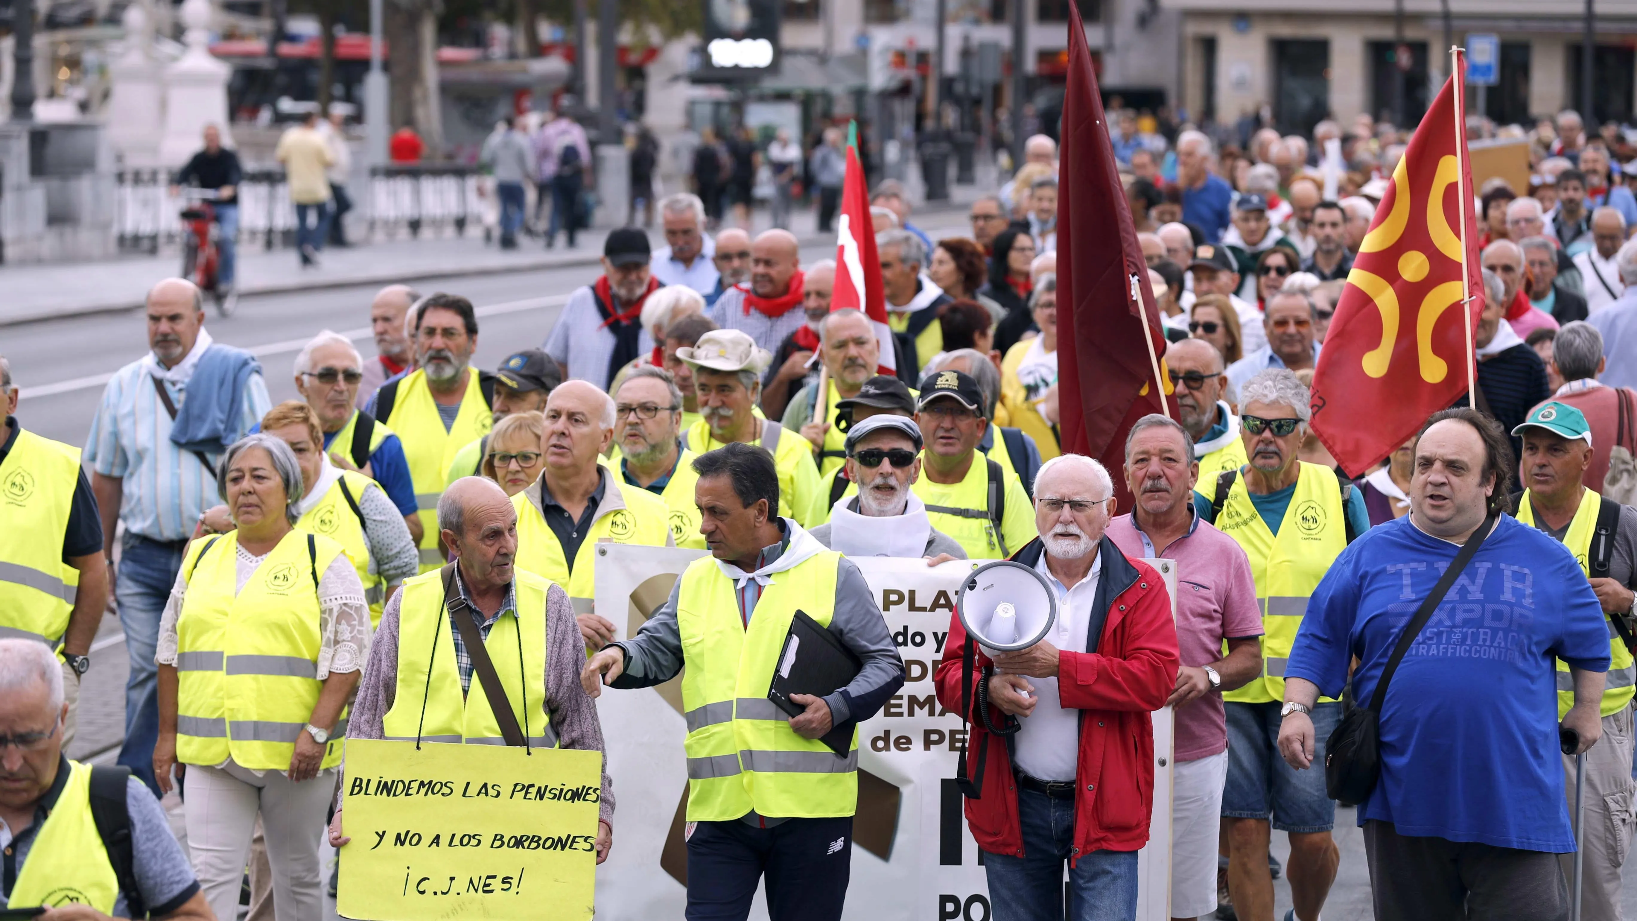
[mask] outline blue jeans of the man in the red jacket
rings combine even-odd
[[[1023,857],[984,852],[995,921],[1130,921],[1136,918],[1136,851],[1092,851],[1069,867],[1069,911],[1062,911],[1062,865],[1074,855],[1074,800],[1018,790]]]

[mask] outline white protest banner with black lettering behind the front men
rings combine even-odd
[[[670,593],[699,551],[599,546],[598,613],[629,637]],[[858,728],[859,783],[846,919],[989,921],[989,888],[966,828],[954,765],[966,728],[938,706],[933,672],[943,656],[961,580],[972,560],[928,567],[922,559],[850,557],[869,582],[904,656],[904,688]],[[1164,562],[1164,560],[1159,560]],[[1174,569],[1174,564],[1170,565]],[[1167,582],[1174,572],[1167,575]],[[598,869],[598,911],[609,918],[679,918],[686,906],[683,806],[686,723],[676,682],[604,688],[598,700],[614,778],[614,851]],[[1170,713],[1154,715],[1152,841],[1139,857],[1143,921],[1169,918]],[[1161,800],[1161,795],[1164,800]],[[1156,851],[1164,857],[1156,859]],[[753,921],[768,918],[758,892]]]

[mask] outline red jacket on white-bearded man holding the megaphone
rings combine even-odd
[[[1012,559],[1035,565],[1043,552],[1031,541]],[[1092,851],[1138,851],[1148,842],[1154,805],[1154,726],[1149,713],[1166,705],[1177,683],[1177,626],[1166,582],[1154,569],[1128,559],[1108,538],[1098,544],[1102,582],[1095,603],[1108,618],[1097,652],[1061,651],[1058,695],[1080,711],[1080,754],[1074,792],[1074,857]],[[949,639],[938,662],[938,701],[961,713],[961,618],[949,619]],[[972,696],[990,660],[974,647]],[[977,777],[977,752],[989,733],[974,713],[967,777]],[[1000,710],[990,708],[999,724]],[[989,739],[982,798],[966,801],[966,821],[984,851],[1023,855],[1018,796],[1012,775],[1012,736]]]

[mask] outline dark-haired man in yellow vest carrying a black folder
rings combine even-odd
[[[743,921],[763,878],[773,921],[837,921],[858,810],[858,731],[846,728],[904,687],[904,659],[858,567],[778,516],[766,449],[730,442],[694,472],[710,556],[637,636],[594,654],[581,682],[598,696],[683,675],[688,921]],[[827,696],[792,695],[807,710],[786,716],[768,687],[797,610],[861,669]],[[850,736],[845,754],[818,741],[835,726]]]

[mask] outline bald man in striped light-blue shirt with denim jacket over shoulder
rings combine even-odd
[[[272,402],[255,359],[211,339],[203,297],[192,282],[154,285],[146,316],[151,351],[108,380],[83,457],[110,570],[115,533],[124,524],[115,600],[131,672],[118,764],[157,795],[154,647],[160,615],[193,528],[218,501],[216,457],[250,431]]]

